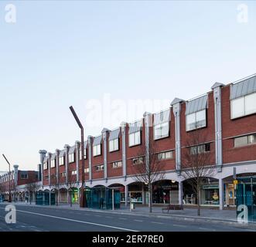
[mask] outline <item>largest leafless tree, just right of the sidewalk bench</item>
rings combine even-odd
[[[194,130],[189,134],[186,147],[183,148],[181,176],[191,186],[196,195],[197,215],[200,215],[201,187],[204,178],[213,177],[215,170],[210,151],[210,142],[202,130]]]

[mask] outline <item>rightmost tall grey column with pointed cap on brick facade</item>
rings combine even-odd
[[[215,123],[215,160],[217,171],[222,171],[222,120],[221,120],[221,87],[224,84],[214,83],[211,87],[214,98],[214,123]]]

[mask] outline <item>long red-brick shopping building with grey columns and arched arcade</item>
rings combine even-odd
[[[196,132],[205,140],[198,147],[187,147],[187,140]],[[84,172],[87,188],[119,188],[125,205],[130,200],[147,204],[147,186],[135,180],[135,166],[147,160],[148,154],[141,151],[149,144],[165,171],[164,178],[153,184],[153,203],[196,203],[180,175],[184,152],[196,148],[210,155],[215,170],[201,188],[201,204],[220,209],[234,206],[234,167],[237,176],[256,174],[256,76],[227,85],[214,83],[203,96],[176,98],[167,110],[145,113],[134,123],[121,123],[115,130],[104,128],[99,136],[88,136],[84,171],[79,141],[53,154],[39,151],[40,190],[51,191],[57,186],[60,202],[77,202]]]

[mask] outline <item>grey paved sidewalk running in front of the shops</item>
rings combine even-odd
[[[218,209],[205,209],[201,208],[200,216],[197,215],[196,208],[184,208],[184,210],[172,210],[167,213],[166,211],[162,212],[162,207],[153,207],[152,213],[149,213],[147,206],[135,206],[135,209],[130,210],[129,207],[121,205],[120,209],[117,210],[106,210],[106,209],[97,209],[97,208],[80,208],[78,204],[73,204],[70,207],[69,204],[60,203],[58,206],[41,206],[29,205],[24,202],[16,202],[16,205],[27,205],[27,206],[36,206],[36,207],[50,207],[50,208],[66,208],[73,210],[85,210],[85,211],[99,211],[99,212],[112,212],[115,214],[125,214],[125,215],[144,215],[144,216],[155,216],[155,217],[164,217],[164,218],[181,218],[186,220],[206,220],[206,221],[221,221],[221,222],[237,222],[237,215],[235,210],[218,210]]]

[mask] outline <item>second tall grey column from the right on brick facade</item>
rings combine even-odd
[[[175,120],[175,140],[176,140],[176,171],[180,174],[181,169],[181,146],[180,146],[180,111],[181,103],[184,100],[175,98],[172,100],[171,106],[174,114]]]

